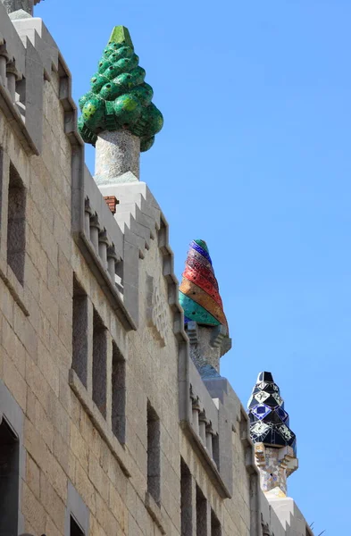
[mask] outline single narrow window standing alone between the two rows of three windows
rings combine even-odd
[[[147,491],[161,502],[160,420],[147,402]]]

